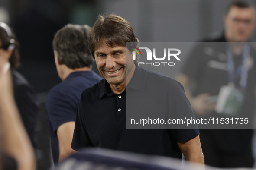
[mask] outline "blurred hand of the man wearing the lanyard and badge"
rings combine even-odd
[[[191,107],[194,112],[200,116],[204,116],[207,113],[214,111],[216,103],[209,102],[210,94],[199,94],[195,98],[191,99]]]

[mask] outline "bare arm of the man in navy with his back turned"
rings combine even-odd
[[[58,148],[59,148],[59,159],[61,162],[65,157],[74,153],[74,150],[71,149],[71,142],[73,139],[73,133],[75,129],[75,122],[66,122],[63,123],[57,129],[58,135]]]

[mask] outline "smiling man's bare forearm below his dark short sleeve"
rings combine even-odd
[[[177,144],[187,161],[204,164],[204,154],[202,152],[199,135],[187,141],[177,142]]]

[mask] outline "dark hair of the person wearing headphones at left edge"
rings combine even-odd
[[[11,29],[11,28],[10,28]],[[12,36],[9,37],[7,32],[4,28],[0,27],[0,41],[1,41],[1,47],[3,47],[4,50],[8,50],[8,47],[10,46],[10,39],[14,39],[14,49],[13,53],[9,59],[9,62],[11,64],[11,68],[18,68],[20,66],[20,59],[19,59],[19,42],[16,39],[16,36],[11,29]]]

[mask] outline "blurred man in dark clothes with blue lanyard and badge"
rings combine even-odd
[[[227,6],[223,21],[224,32],[218,37],[206,38],[204,42],[229,42],[230,46],[220,45],[222,47],[217,49],[211,47],[213,53],[210,54],[204,47],[207,43],[201,43],[201,46],[192,50],[176,80],[184,86],[191,107],[199,118],[218,115],[215,112],[217,100],[213,102],[211,97],[218,95],[220,87],[231,82],[244,96],[240,117],[249,117],[249,121],[252,121],[255,112],[253,91],[256,87],[256,51],[246,41],[249,41],[255,28],[255,8],[244,1],[234,1]],[[223,54],[224,57],[217,54]],[[243,65],[245,57],[250,64]],[[227,66],[227,69],[214,68],[209,62]],[[229,69],[230,65],[233,70]],[[242,67],[247,68],[246,75],[242,71],[238,72]],[[230,79],[233,74],[236,77]],[[246,78],[245,87],[242,87],[242,78]],[[191,88],[193,85],[195,88]],[[253,167],[253,129],[200,129],[200,133],[205,164],[214,167]]]

